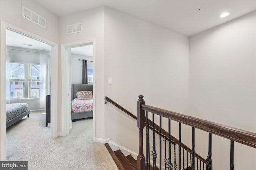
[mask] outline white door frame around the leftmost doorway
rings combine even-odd
[[[28,35],[38,41],[51,45],[51,126],[50,137],[57,137],[58,128],[58,44],[48,39],[30,33],[24,29],[6,23],[0,22],[0,160],[6,160],[6,29],[10,28],[22,34]],[[4,79],[4,80],[3,80]]]

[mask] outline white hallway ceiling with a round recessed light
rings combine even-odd
[[[187,36],[256,10],[256,0],[36,0],[57,16],[106,6]],[[198,11],[198,9],[201,9]],[[219,18],[230,12],[226,18]]]

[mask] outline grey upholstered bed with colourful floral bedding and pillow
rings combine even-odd
[[[93,115],[92,84],[72,84],[72,121]]]

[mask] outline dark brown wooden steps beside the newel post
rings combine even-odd
[[[125,156],[121,150],[113,151],[108,143],[105,143],[105,146],[119,170],[138,170],[137,161],[132,157],[132,155],[129,154]],[[150,170],[153,170],[151,165]],[[159,170],[159,168],[156,168],[156,170]]]

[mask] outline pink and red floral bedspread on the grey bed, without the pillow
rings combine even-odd
[[[76,113],[79,111],[92,111],[93,109],[93,99],[78,99],[72,100],[72,112]]]

